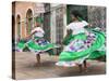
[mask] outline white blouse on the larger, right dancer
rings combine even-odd
[[[73,30],[72,35],[77,35],[81,32],[85,32],[86,30],[85,30],[84,26],[87,26],[87,25],[88,25],[88,23],[85,21],[71,23],[66,26],[66,29]]]

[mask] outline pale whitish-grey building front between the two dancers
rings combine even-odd
[[[65,35],[66,26],[66,5],[65,4],[51,4],[51,41],[61,44]],[[55,53],[59,54],[62,51],[62,45],[57,49]]]

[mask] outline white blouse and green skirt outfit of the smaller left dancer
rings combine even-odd
[[[58,48],[55,43],[50,43],[44,39],[45,31],[40,27],[36,27],[34,30],[32,30],[32,33],[33,32],[35,32],[33,39],[20,41],[17,43],[17,51],[23,51],[23,49],[28,48],[31,52],[39,54],[41,52]]]

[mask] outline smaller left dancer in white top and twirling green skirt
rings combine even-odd
[[[50,52],[51,55],[51,50],[58,48],[55,43],[50,43],[44,39],[44,36],[45,31],[40,27],[40,23],[37,22],[31,35],[26,37],[26,42],[21,41],[17,43],[19,50],[23,51],[26,46],[31,52],[36,54],[37,65],[40,64],[40,54],[44,54],[44,52]]]

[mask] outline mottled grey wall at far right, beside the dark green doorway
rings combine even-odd
[[[106,8],[105,6],[87,6],[88,22],[93,27],[99,27],[106,32]]]

